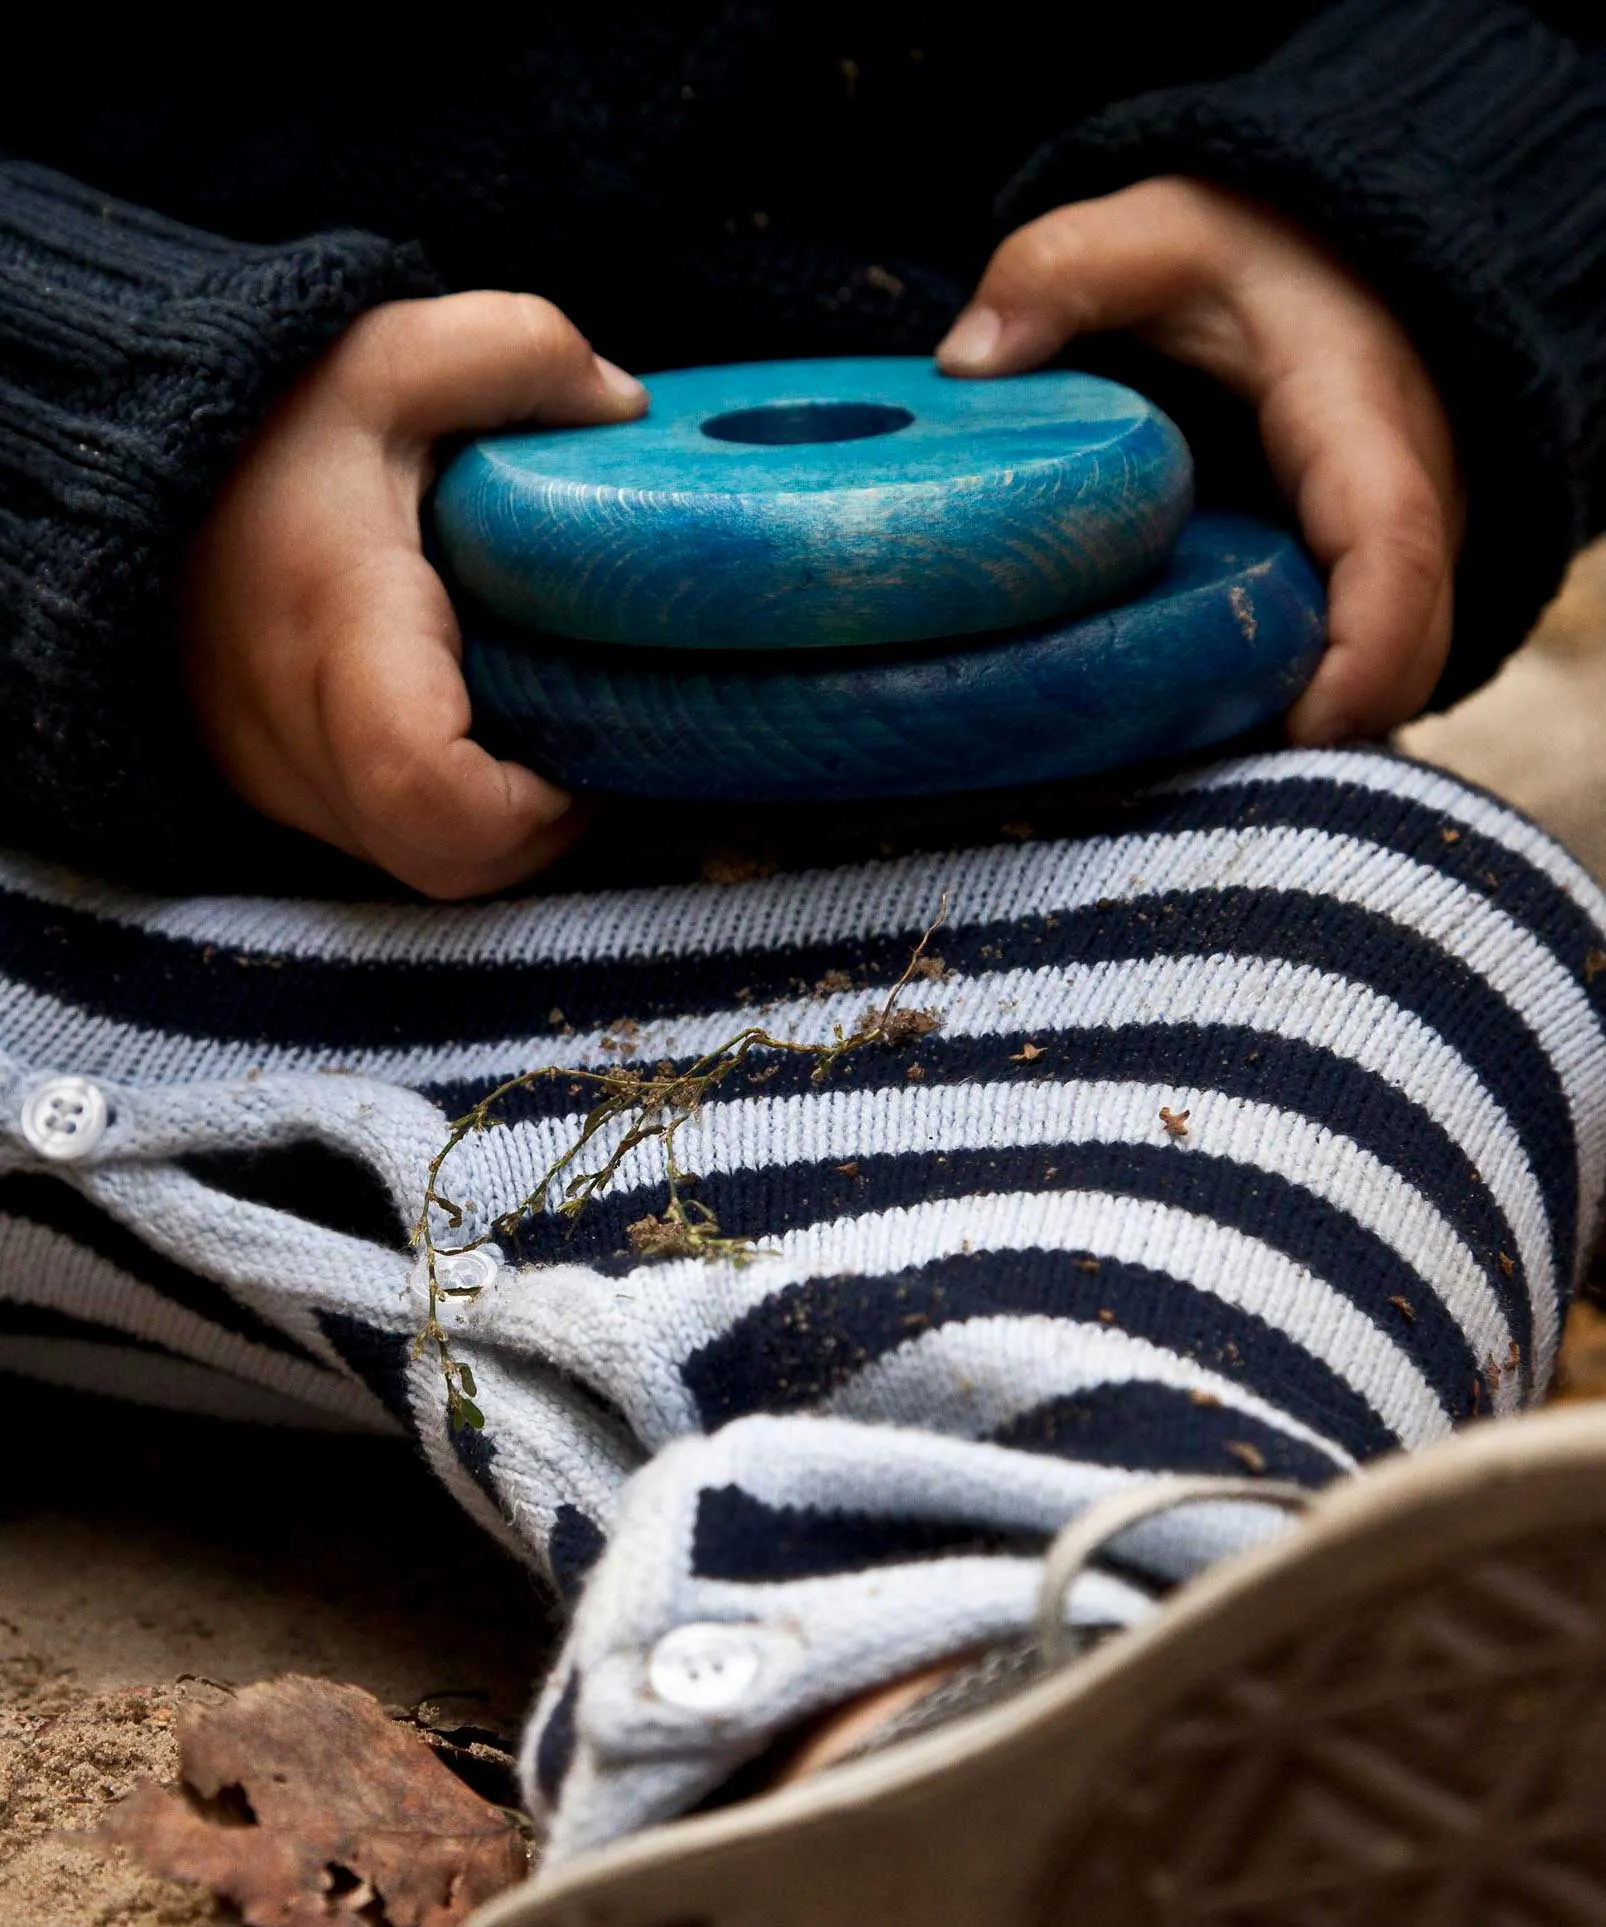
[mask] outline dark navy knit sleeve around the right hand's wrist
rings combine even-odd
[[[1346,0],[1247,75],[1143,94],[1039,150],[1004,210],[1161,173],[1305,222],[1413,335],[1471,501],[1454,700],[1606,518],[1606,60],[1498,0]]]

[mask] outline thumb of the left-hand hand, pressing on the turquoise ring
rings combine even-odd
[[[634,376],[538,295],[474,291],[374,308],[343,337],[334,387],[368,426],[418,441],[517,422],[629,420]]]

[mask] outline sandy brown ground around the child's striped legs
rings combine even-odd
[[[1606,545],[1488,690],[1407,748],[1521,804],[1606,879]],[[1606,1391],[1606,1316],[1569,1330]],[[0,1378],[0,1927],[222,1919],[83,1838],[175,1771],[175,1713],[276,1673],[472,1742],[494,1798],[549,1626],[403,1449],[226,1428]]]

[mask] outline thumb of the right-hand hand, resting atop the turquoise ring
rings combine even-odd
[[[999,247],[937,362],[947,374],[1014,374],[1074,335],[1155,320],[1226,270],[1228,225],[1184,181],[1055,208]]]

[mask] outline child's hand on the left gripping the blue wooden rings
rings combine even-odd
[[[569,798],[468,740],[418,499],[442,436],[644,407],[642,385],[534,295],[362,316],[268,418],[189,561],[189,690],[233,788],[430,896],[497,890],[549,861]]]

